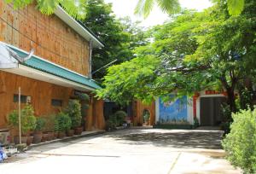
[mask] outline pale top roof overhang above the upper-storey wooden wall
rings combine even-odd
[[[62,9],[60,6],[55,10],[55,15],[63,20],[68,26],[72,27],[74,31],[78,32],[83,38],[92,42],[94,48],[104,47],[104,44],[94,36],[89,30],[85,29],[84,26],[79,24],[77,20],[74,20],[72,16],[67,14],[67,12]]]

